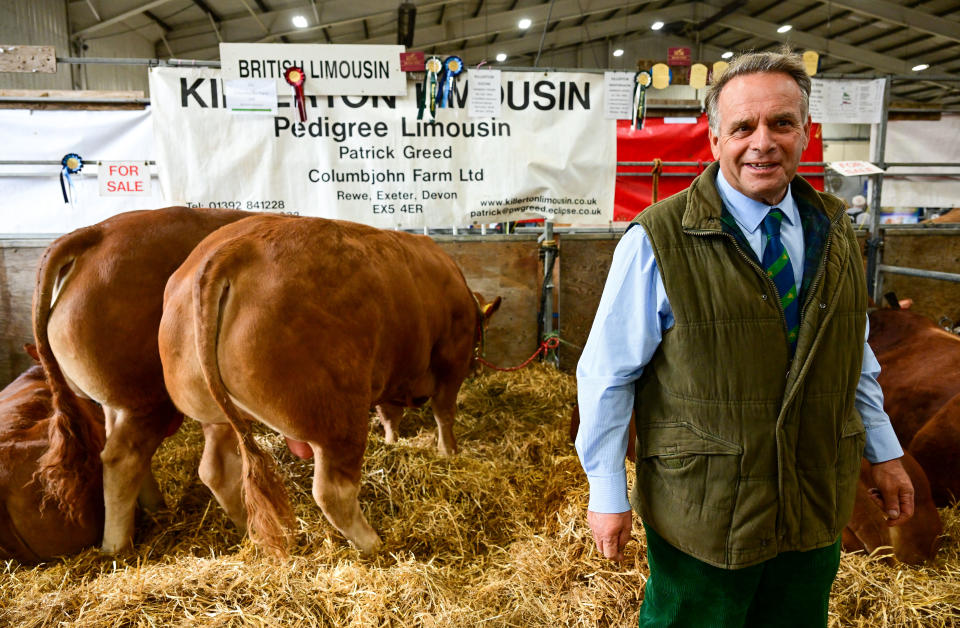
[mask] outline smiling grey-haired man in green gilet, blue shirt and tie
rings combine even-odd
[[[826,626],[861,454],[888,523],[913,513],[850,221],[795,176],[809,93],[786,50],[711,86],[716,162],[624,235],[577,367],[597,548],[622,559],[631,503],[647,534],[641,627]]]

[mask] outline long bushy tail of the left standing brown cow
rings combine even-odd
[[[100,242],[102,233],[86,227],[56,240],[47,247],[37,269],[33,293],[33,336],[40,364],[50,387],[53,414],[47,438],[50,445],[40,457],[34,474],[44,489],[43,505],[53,501],[67,518],[85,523],[83,504],[88,497],[88,478],[99,476],[103,435],[96,429],[67,384],[50,348],[47,324],[54,292],[62,291],[75,270],[77,258]]]

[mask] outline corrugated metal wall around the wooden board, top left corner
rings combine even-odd
[[[54,46],[70,56],[66,0],[0,0],[0,44]],[[0,73],[0,89],[70,89],[70,66],[56,74]]]

